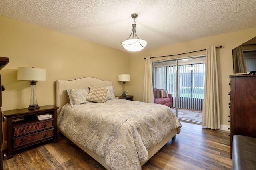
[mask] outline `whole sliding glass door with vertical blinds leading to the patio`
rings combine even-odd
[[[205,57],[153,63],[154,88],[172,94],[172,110],[179,119],[202,121]]]

